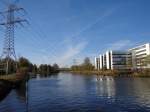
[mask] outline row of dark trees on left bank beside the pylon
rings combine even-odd
[[[3,63],[4,60],[1,60],[0,63]],[[16,65],[17,69],[23,69],[27,72],[34,73],[34,74],[44,74],[48,75],[51,73],[56,73],[59,71],[59,66],[57,64],[41,64],[37,66],[36,64],[32,64],[28,59],[24,57],[20,57],[17,62],[10,59],[9,61],[9,74],[16,72]],[[5,71],[1,71],[0,74],[5,74]]]

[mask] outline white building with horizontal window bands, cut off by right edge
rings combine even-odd
[[[148,65],[145,64],[145,59],[150,55],[150,43],[137,46],[135,48],[129,49],[132,52],[132,66],[133,68],[147,68]]]

